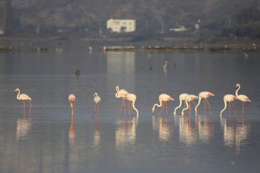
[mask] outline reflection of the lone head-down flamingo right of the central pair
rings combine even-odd
[[[155,118],[153,116],[153,131],[159,132],[159,140],[161,142],[167,142],[173,133],[168,117],[159,116],[159,118]]]

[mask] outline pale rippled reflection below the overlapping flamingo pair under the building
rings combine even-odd
[[[135,144],[136,127],[138,119],[129,116],[116,120],[116,148],[122,148],[127,144]]]

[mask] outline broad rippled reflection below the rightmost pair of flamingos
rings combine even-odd
[[[229,120],[220,117],[220,126],[224,131],[224,145],[231,148],[235,146],[235,152],[239,154],[242,142],[246,142],[248,137],[248,124],[245,124],[244,119],[242,122],[237,122],[237,117],[235,117],[235,120],[231,120],[229,116]],[[244,143],[244,145],[246,144]]]

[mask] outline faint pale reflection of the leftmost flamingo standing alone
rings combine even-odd
[[[25,137],[31,130],[31,120],[18,118],[16,122],[16,139]]]

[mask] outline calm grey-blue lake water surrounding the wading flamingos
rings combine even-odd
[[[259,172],[260,58],[250,53],[101,53],[88,46],[61,53],[0,53],[0,172]],[[167,71],[161,69],[168,61]],[[75,75],[76,70],[81,75]],[[224,107],[224,94],[250,97],[242,118]],[[115,87],[137,95],[139,119],[118,115]],[[14,90],[33,100],[28,105]],[[183,118],[172,112],[179,94],[209,91],[211,114],[199,107]],[[99,120],[91,118],[93,94],[101,96]],[[74,93],[70,120],[68,94]],[[170,114],[151,114],[161,93],[173,96]],[[197,101],[196,101],[197,102]],[[134,111],[133,111],[134,113]]]

